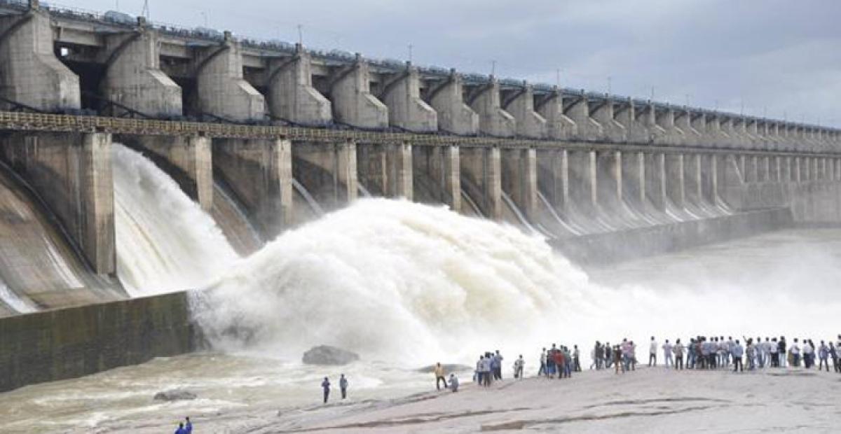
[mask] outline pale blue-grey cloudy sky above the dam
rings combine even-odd
[[[143,0],[61,0],[139,15]],[[149,0],[151,20],[841,127],[838,0]],[[610,80],[608,79],[610,77]],[[653,91],[652,91],[653,87]]]

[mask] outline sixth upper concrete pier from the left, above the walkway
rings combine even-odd
[[[438,130],[438,113],[421,99],[421,78],[417,68],[406,64],[406,71],[385,84],[383,102],[389,107],[389,123],[415,132]]]

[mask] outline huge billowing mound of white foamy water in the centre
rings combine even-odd
[[[445,207],[365,199],[284,233],[200,295],[220,348],[377,357],[521,342],[587,278],[542,238]],[[230,331],[236,331],[230,336]]]

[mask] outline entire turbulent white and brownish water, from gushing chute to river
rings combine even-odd
[[[205,288],[193,309],[214,350],[2,394],[0,431],[130,430],[274,411],[317,403],[320,379],[340,373],[354,399],[388,398],[431,385],[418,367],[472,364],[488,350],[502,351],[506,373],[520,353],[533,371],[553,342],[587,348],[589,364],[595,339],[838,332],[824,320],[841,307],[841,230],[769,233],[585,271],[516,227],[364,199],[239,258],[140,154],[117,148],[114,164],[120,279],[134,295]],[[322,343],[362,360],[300,363]],[[152,400],[172,388],[198,400]]]

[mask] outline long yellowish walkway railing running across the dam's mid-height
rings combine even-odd
[[[688,146],[633,142],[587,140],[553,140],[501,138],[492,136],[460,136],[438,133],[369,131],[359,129],[315,128],[285,125],[246,125],[236,123],[182,122],[143,118],[111,118],[69,114],[3,112],[0,130],[48,131],[66,133],[102,132],[126,135],[198,135],[230,139],[289,139],[299,142],[362,144],[407,143],[419,146],[497,147],[505,149],[614,149],[664,153],[810,155],[838,157],[841,152],[810,149],[744,149],[724,146]]]

